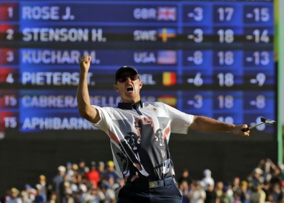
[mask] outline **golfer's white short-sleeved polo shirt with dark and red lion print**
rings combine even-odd
[[[124,181],[134,181],[141,174],[149,180],[174,176],[168,148],[170,133],[186,134],[193,115],[160,102],[93,107],[101,120],[92,125],[110,137],[115,167]]]

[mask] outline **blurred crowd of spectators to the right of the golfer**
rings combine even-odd
[[[178,179],[182,203],[265,203],[284,202],[284,164],[263,159],[245,180],[214,181],[210,170],[202,180],[192,180],[187,170]]]

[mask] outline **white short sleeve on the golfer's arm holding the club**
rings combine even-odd
[[[191,126],[194,115],[183,113],[169,105],[165,105],[171,121],[171,132],[186,134]]]

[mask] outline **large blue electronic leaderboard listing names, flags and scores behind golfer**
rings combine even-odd
[[[86,54],[94,105],[117,106],[114,73],[131,65],[143,101],[235,124],[276,120],[273,7],[272,0],[3,0],[0,134],[93,133],[76,101],[78,57]],[[276,133],[260,125],[251,140]]]

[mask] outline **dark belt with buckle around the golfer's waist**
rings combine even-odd
[[[134,182],[126,182],[125,186],[127,187],[138,187],[143,189],[151,189],[151,188],[157,188],[157,187],[163,187],[167,185],[176,184],[176,181],[173,177],[164,178],[163,180],[159,181],[134,181]]]

